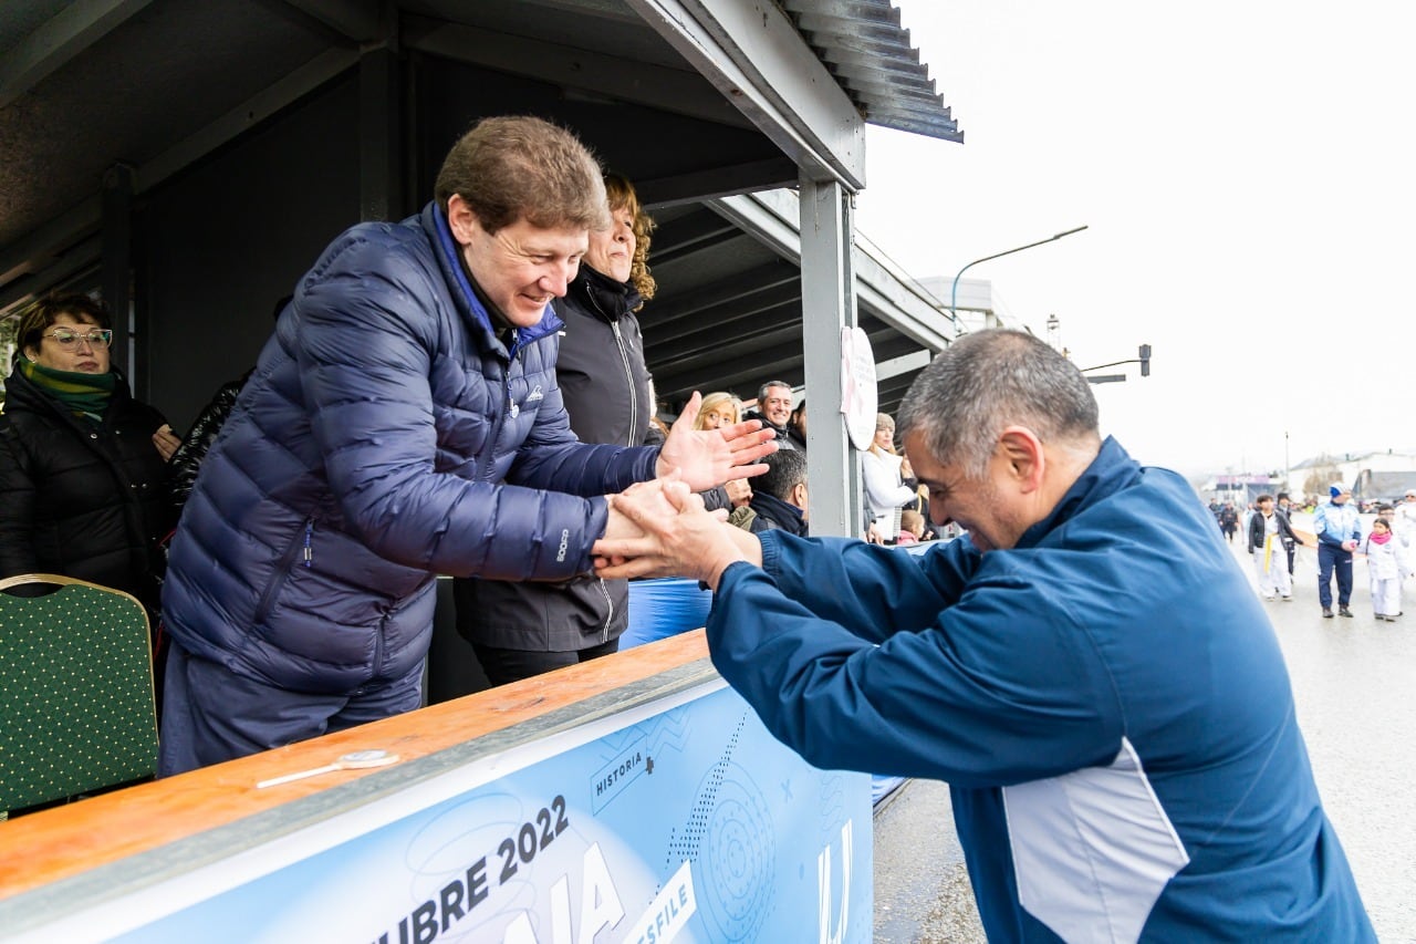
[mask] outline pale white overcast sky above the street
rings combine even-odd
[[[1141,462],[1416,449],[1413,7],[895,3],[966,143],[869,128],[872,242],[953,279],[1086,224],[964,278],[1079,367],[1153,346],[1095,387]]]

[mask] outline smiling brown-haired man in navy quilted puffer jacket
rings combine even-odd
[[[605,495],[762,471],[695,401],[661,449],[571,432],[549,302],[605,207],[573,135],[486,119],[422,214],[300,279],[173,540],[164,775],[418,707],[436,574],[565,580],[626,527]]]

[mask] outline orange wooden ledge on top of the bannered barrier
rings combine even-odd
[[[432,775],[449,763],[464,763],[472,741],[476,753],[490,753],[715,676],[704,632],[698,629],[347,731],[0,822],[0,928],[13,927],[4,901],[23,892],[103,872],[103,866],[129,856],[202,835],[211,835],[212,853],[229,855],[225,836],[215,833],[248,816],[304,798],[316,798],[319,809],[310,812],[323,815],[364,799],[371,791],[398,790],[413,777]],[[503,737],[490,737],[498,733]],[[362,748],[389,750],[401,761],[392,767],[333,771],[268,790],[255,787],[262,780],[321,767]],[[442,763],[415,763],[449,751]],[[370,781],[368,790],[340,790],[358,781]],[[304,815],[292,812],[290,822]],[[195,865],[210,856],[190,848],[184,859]],[[84,892],[95,893],[101,890]]]

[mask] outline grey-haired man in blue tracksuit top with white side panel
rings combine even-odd
[[[990,941],[1374,941],[1273,629],[1178,475],[1097,432],[1018,332],[954,342],[899,412],[920,556],[613,499],[615,574],[715,588],[714,665],[821,768],[944,780]],[[610,563],[615,561],[615,566]]]

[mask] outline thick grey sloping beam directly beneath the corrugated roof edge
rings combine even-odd
[[[775,3],[626,3],[804,174],[865,186],[865,120]]]

